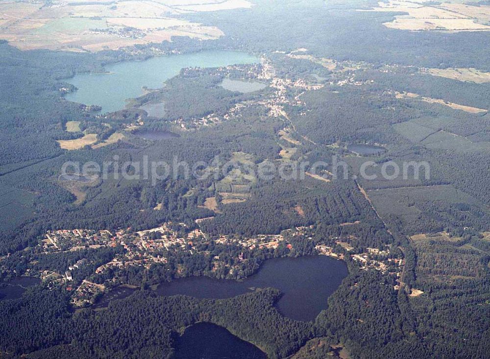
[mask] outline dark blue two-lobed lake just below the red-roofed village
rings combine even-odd
[[[347,276],[344,262],[327,256],[270,259],[242,282],[190,277],[158,286],[159,295],[184,294],[196,298],[231,298],[254,287],[273,287],[283,295],[276,303],[285,316],[309,321],[327,308],[328,297]]]

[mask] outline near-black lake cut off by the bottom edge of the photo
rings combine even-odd
[[[255,345],[212,323],[187,328],[175,343],[176,359],[267,359]]]

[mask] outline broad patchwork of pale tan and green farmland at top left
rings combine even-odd
[[[173,36],[217,39],[214,26],[192,23],[179,14],[249,8],[245,0],[228,1],[53,1],[0,3],[0,39],[20,49],[47,48],[96,52],[137,44],[172,41]],[[173,16],[173,17],[171,17]]]

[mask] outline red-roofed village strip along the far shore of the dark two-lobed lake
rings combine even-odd
[[[278,248],[294,251],[294,246],[290,241],[294,241],[294,239],[312,241],[314,240],[313,236],[312,227],[296,227],[282,231],[281,234],[277,235],[258,235],[251,238],[221,235],[216,239],[211,239],[199,228],[189,228],[185,223],[172,222],[163,223],[159,227],[143,231],[133,231],[132,228],[112,232],[89,229],[56,230],[47,232],[40,240],[39,245],[34,248],[34,252],[50,255],[60,252],[99,250],[101,248],[120,247],[123,250],[115,258],[98,266],[94,266],[90,259],[81,258],[71,263],[64,273],[44,270],[36,275],[30,270],[30,275],[40,276],[43,281],[48,283],[48,287],[66,286],[66,289],[72,293],[71,303],[73,307],[80,308],[97,302],[98,298],[108,289],[106,284],[109,284],[110,288],[117,282],[116,278],[105,279],[105,282],[101,279],[97,280],[97,278],[106,278],[108,273],[127,270],[131,267],[142,267],[144,270],[148,270],[152,265],[167,263],[168,256],[172,253],[185,252],[191,256],[206,255],[206,251],[200,250],[200,244],[203,243],[213,242],[215,245],[244,248],[244,251],[239,251],[231,263],[229,259],[225,261],[224,257],[214,256],[213,258],[214,269],[224,266],[230,274],[233,274],[239,270],[241,264],[248,260],[244,258],[245,251],[255,250],[271,253]],[[390,246],[386,246],[384,249],[366,248],[366,252],[355,253],[353,245],[349,243],[353,241],[355,241],[353,237],[330,238],[328,241],[316,244],[315,252],[337,260],[347,261],[348,259],[348,262],[357,265],[361,270],[374,269],[392,276],[396,282],[393,289],[398,290],[401,285],[404,260],[392,258]],[[92,268],[88,272],[89,276],[80,277],[79,273],[85,273],[87,268]]]

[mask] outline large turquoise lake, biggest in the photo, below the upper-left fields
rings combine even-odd
[[[102,112],[121,110],[125,100],[143,95],[142,87],[161,88],[163,83],[188,67],[212,68],[258,63],[259,59],[241,51],[209,50],[153,57],[144,61],[124,61],[107,65],[107,73],[80,73],[65,80],[78,88],[66,94],[69,101],[99,105]]]

